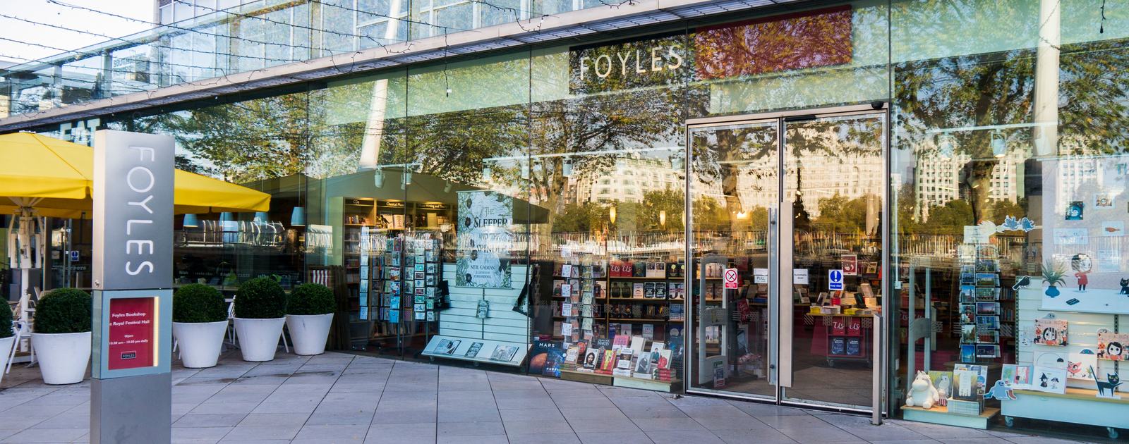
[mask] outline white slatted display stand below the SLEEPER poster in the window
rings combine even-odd
[[[530,267],[526,265],[511,267],[511,282],[526,282]],[[443,269],[443,278],[448,284],[454,284],[455,265],[448,264]],[[422,354],[432,358],[522,365],[530,350],[526,334],[530,319],[514,311],[522,293],[522,288],[515,286],[515,288],[481,288],[449,285],[450,308],[443,310],[439,317],[439,335],[431,337]],[[485,318],[476,316],[482,300],[489,303]],[[519,309],[528,312],[527,307]]]

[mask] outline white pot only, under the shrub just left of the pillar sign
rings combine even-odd
[[[47,384],[82,382],[90,363],[90,332],[32,332],[32,347],[40,359],[40,374]]]

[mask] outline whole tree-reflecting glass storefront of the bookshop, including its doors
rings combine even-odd
[[[1127,42],[1089,1],[821,3],[102,124],[270,193],[178,224],[178,282],[326,283],[339,349],[1095,435]]]

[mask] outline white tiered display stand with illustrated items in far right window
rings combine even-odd
[[[1038,344],[1034,338],[1019,340],[1018,365],[1031,368],[1031,381],[1029,385],[1040,385],[1036,380],[1035,367],[1051,366],[1067,368],[1075,359],[1080,361],[1080,368],[1084,378],[1071,378],[1069,370],[1066,391],[1064,393],[1050,393],[1044,391],[1016,389],[1015,400],[1000,401],[1003,405],[1004,420],[1008,426],[1014,424],[1014,418],[1031,418],[1056,420],[1062,423],[1087,424],[1106,427],[1110,438],[1117,438],[1118,429],[1129,425],[1129,394],[1122,393],[1124,384],[1114,391],[1120,398],[1099,398],[1094,379],[1086,367],[1094,365],[1097,376],[1105,381],[1106,374],[1118,373],[1119,361],[1099,359],[1097,332],[1105,329],[1110,332],[1119,332],[1121,314],[1114,313],[1083,313],[1068,312],[1061,310],[1043,310],[1044,290],[1043,281],[1032,277],[1031,284],[1026,288],[1018,291],[1019,323],[1023,335],[1034,336],[1035,322],[1048,319],[1048,313],[1053,313],[1053,320],[1066,321],[1067,345],[1054,346]],[[1062,294],[1057,299],[1082,298],[1075,296],[1069,287],[1061,288]],[[1091,290],[1094,292],[1094,290]],[[1079,293],[1084,295],[1083,293]],[[1122,295],[1129,299],[1129,296]],[[1044,321],[1045,322],[1045,321]],[[1122,328],[1123,330],[1123,328]],[[1087,350],[1094,352],[1089,355]],[[1089,355],[1089,356],[1086,356]],[[1066,359],[1067,364],[1059,363]]]

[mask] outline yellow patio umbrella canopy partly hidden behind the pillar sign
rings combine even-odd
[[[176,170],[174,203],[178,214],[268,211],[266,193]],[[94,150],[33,133],[0,135],[0,212],[34,208],[51,217],[89,217],[94,187]]]

